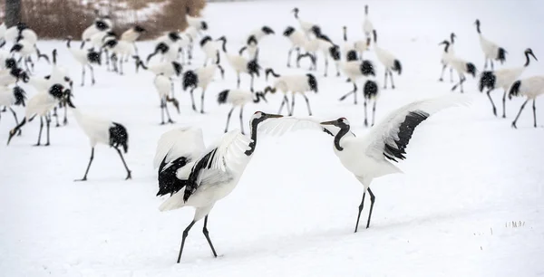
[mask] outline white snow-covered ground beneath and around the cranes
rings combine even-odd
[[[275,36],[261,47],[264,68],[287,69],[289,43],[281,35],[287,25],[298,28],[289,11],[297,6],[306,21],[321,24],[324,33],[342,43],[342,26],[350,40],[361,39],[364,4],[379,33],[379,43],[403,62],[394,75],[396,90],[381,91],[376,119],[413,100],[445,95],[449,76],[439,82],[442,47],[455,32],[455,51],[483,67],[474,26],[507,51],[501,66],[520,66],[531,47],[544,59],[544,3],[540,1],[270,1],[209,4],[204,12],[209,34],[228,37],[228,50],[238,51],[252,29],[270,25]],[[151,53],[152,43],[139,43]],[[129,130],[126,160],[132,180],[111,148],[99,146],[87,182],[83,177],[90,147],[72,114],[69,125],[52,128],[52,145],[33,147],[39,129],[34,120],[5,146],[15,126],[9,113],[0,121],[0,275],[2,276],[535,276],[544,274],[544,99],[537,100],[539,126],[532,127],[532,110],[524,110],[518,129],[510,123],[523,99],[507,102],[508,119],[495,118],[477,81],[469,77],[468,108],[444,110],[413,134],[405,174],[382,177],[371,186],[376,196],[369,229],[354,234],[363,186],[333,151],[332,139],[319,132],[298,131],[284,137],[261,137],[256,154],[231,195],[209,215],[209,234],[219,253],[213,258],[199,222],[189,233],[181,263],[176,258],[181,233],[192,208],[160,213],[157,172],[152,159],[160,135],[174,127],[198,126],[207,143],[223,134],[228,105],[219,106],[217,93],[235,88],[236,77],[225,62],[226,79],[209,87],[204,115],[190,109],[189,92],[176,96],[180,114],[170,109],[175,125],[160,126],[159,99],[151,72],[134,72],[133,63],[119,76],[97,69],[97,84],[79,87],[81,69],[65,43],[40,42],[47,53],[57,48],[60,62],[75,80],[73,102],[84,112],[120,122]],[[201,65],[203,53],[195,48]],[[384,69],[374,53],[365,58]],[[352,86],[345,77],[322,76],[319,92],[309,95],[320,119],[346,117],[363,135],[362,101],[355,106],[337,99]],[[334,68],[334,67],[333,67]],[[332,68],[330,69],[333,72]],[[46,75],[41,63],[36,74]],[[544,72],[535,62],[528,77]],[[334,76],[334,74],[332,74]],[[242,77],[248,88],[248,77]],[[457,80],[457,77],[455,77]],[[257,90],[267,82],[261,76]],[[30,95],[34,91],[27,88]],[[358,92],[361,93],[361,92]],[[459,93],[459,92],[455,92]],[[492,96],[500,103],[501,91]],[[199,91],[195,94],[199,104]],[[362,100],[361,94],[359,99]],[[245,120],[255,110],[277,112],[281,95],[268,103],[248,105]],[[306,116],[302,98],[295,115]],[[501,111],[501,108],[499,108]],[[18,109],[20,117],[23,110]],[[230,124],[238,128],[238,111]],[[248,130],[248,126],[246,128]],[[43,140],[44,141],[44,140]],[[368,199],[367,199],[368,201]],[[365,222],[368,203],[362,215]],[[520,223],[513,226],[511,223]]]

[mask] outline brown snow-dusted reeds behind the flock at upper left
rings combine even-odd
[[[115,32],[145,25],[150,32],[141,38],[149,39],[166,31],[183,31],[186,7],[195,16],[206,2],[228,1],[232,0],[0,0],[0,22],[9,27],[20,20],[40,38],[79,38],[98,12],[112,17]]]

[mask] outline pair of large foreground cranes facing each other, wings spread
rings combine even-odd
[[[182,234],[178,263],[189,230],[202,218],[202,233],[213,255],[217,257],[207,227],[209,212],[217,201],[228,196],[238,185],[255,153],[259,133],[282,135],[296,129],[316,129],[334,137],[335,155],[364,186],[355,224],[357,232],[367,192],[371,203],[366,228],[370,226],[375,200],[370,189],[372,181],[374,178],[401,172],[392,162],[406,158],[405,148],[412,138],[413,130],[433,113],[467,103],[468,100],[459,95],[415,101],[391,112],[364,137],[355,137],[345,118],[332,121],[284,118],[261,111],[257,111],[250,119],[249,137],[239,130],[233,130],[208,148],[204,146],[202,130],[199,128],[172,129],[164,133],[159,139],[153,165],[159,168],[157,196],[170,197],[159,209],[169,211],[184,206],[196,208],[193,220]]]

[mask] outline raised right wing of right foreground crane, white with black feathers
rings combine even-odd
[[[362,139],[365,154],[376,159],[404,159],[404,149],[412,138],[413,130],[435,112],[455,106],[467,105],[469,97],[448,95],[429,100],[419,100],[393,110]]]

